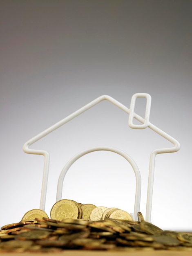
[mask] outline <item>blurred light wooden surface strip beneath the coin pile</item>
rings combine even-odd
[[[37,252],[22,252],[22,253],[0,253],[0,256],[192,256],[192,251],[168,251],[168,250],[139,250],[139,251],[88,251],[88,250],[64,250],[62,252],[37,253]]]

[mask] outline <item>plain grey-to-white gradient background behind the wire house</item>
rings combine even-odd
[[[192,230],[191,0],[0,1],[0,225],[38,208],[43,157],[23,144],[95,98],[129,107],[136,92],[152,96],[150,121],[181,144],[156,157],[152,223]],[[138,101],[142,115],[145,104]],[[150,129],[128,127],[128,115],[104,101],[31,148],[51,154],[47,201],[70,157],[90,146],[114,146],[137,163],[145,216],[150,152],[171,146]],[[122,157],[95,152],[66,175],[63,198],[134,210],[135,178]]]

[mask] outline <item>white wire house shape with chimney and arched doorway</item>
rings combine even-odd
[[[134,112],[136,99],[138,97],[146,98],[145,118],[141,117],[140,115],[137,115]],[[165,133],[163,130],[159,129],[158,127],[156,127],[156,126],[154,126],[153,124],[150,123],[149,118],[150,118],[150,108],[151,108],[151,96],[150,96],[150,94],[147,94],[147,93],[136,93],[136,94],[134,94],[132,96],[132,99],[131,99],[130,108],[127,108],[126,106],[124,106],[123,104],[121,104],[120,102],[116,101],[115,99],[113,99],[112,97],[110,97],[108,95],[102,95],[102,96],[94,99],[93,101],[91,101],[90,103],[85,105],[84,107],[78,109],[77,111],[75,111],[71,115],[65,117],[64,119],[62,119],[58,123],[54,124],[53,126],[49,127],[48,129],[44,130],[40,134],[36,135],[32,139],[29,139],[23,145],[23,151],[25,153],[36,154],[36,155],[44,155],[44,157],[45,157],[43,178],[42,178],[41,198],[40,198],[40,209],[45,211],[45,201],[46,201],[47,182],[48,182],[48,173],[49,173],[49,153],[46,150],[31,149],[31,148],[29,148],[29,146],[31,146],[33,143],[35,143],[36,141],[38,141],[42,137],[48,135],[50,132],[56,130],[60,126],[63,126],[64,124],[71,121],[72,119],[74,119],[78,115],[82,114],[86,110],[92,108],[93,106],[95,106],[96,104],[98,104],[98,103],[100,103],[101,101],[104,101],[104,100],[107,100],[107,101],[111,102],[112,104],[114,104],[115,106],[117,106],[121,110],[125,111],[127,114],[129,114],[128,124],[129,124],[130,128],[145,129],[145,128],[148,127],[151,130],[153,130],[154,132],[156,132],[159,135],[161,135],[162,137],[164,137],[165,139],[167,139],[168,141],[170,141],[174,145],[173,147],[169,147],[169,148],[155,149],[150,154],[148,189],[147,189],[147,203],[146,203],[146,216],[145,216],[145,220],[147,222],[150,222],[150,220],[151,220],[151,210],[152,210],[152,194],[153,194],[153,182],[154,182],[155,157],[156,157],[157,154],[160,154],[160,153],[177,152],[180,148],[180,144],[176,139],[174,139],[173,137],[171,137],[170,135]],[[139,122],[141,122],[141,124],[133,124],[134,118],[137,119]],[[140,171],[139,171],[136,163],[134,162],[134,160],[127,153],[125,153],[124,151],[122,151],[118,148],[113,148],[113,147],[109,147],[109,146],[96,146],[96,147],[88,148],[86,150],[83,150],[83,151],[77,153],[76,155],[74,155],[74,157],[69,159],[69,161],[65,164],[63,170],[61,171],[59,179],[58,179],[56,202],[61,200],[62,190],[63,190],[63,180],[64,180],[65,175],[66,175],[68,169],[70,168],[70,166],[77,159],[82,157],[83,155],[86,155],[88,153],[98,151],[98,150],[107,150],[107,151],[112,151],[114,153],[117,153],[117,154],[121,155],[122,157],[124,157],[129,162],[129,164],[131,164],[131,166],[134,170],[135,176],[136,176],[136,193],[135,193],[134,213],[131,213],[131,215],[132,215],[132,218],[134,220],[138,220],[137,213],[140,209],[140,200],[141,200],[141,175],[140,175]]]

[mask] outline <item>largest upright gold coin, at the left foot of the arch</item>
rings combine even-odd
[[[56,202],[51,208],[50,216],[54,220],[67,218],[78,218],[79,208],[72,200],[62,199]]]

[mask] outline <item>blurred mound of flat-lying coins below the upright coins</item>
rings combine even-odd
[[[0,252],[60,252],[66,249],[192,251],[192,234],[163,231],[144,220],[112,218],[92,221],[43,217],[5,225],[0,231]]]

